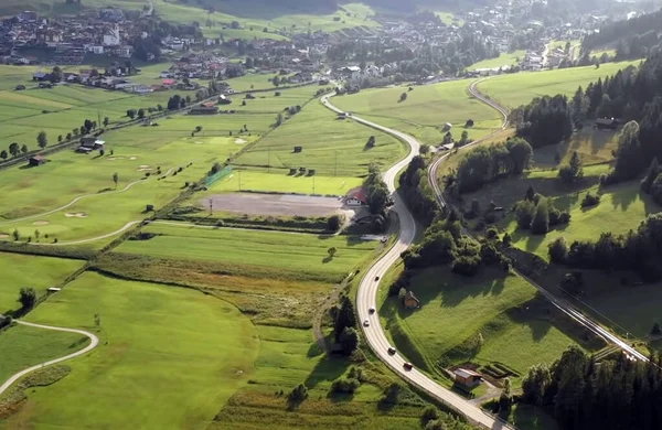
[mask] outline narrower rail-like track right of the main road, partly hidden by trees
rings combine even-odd
[[[487,79],[489,79],[489,78],[487,78]],[[499,103],[494,101],[493,99],[489,98],[488,96],[481,94],[478,90],[477,85],[483,80],[485,80],[485,79],[479,79],[479,80],[473,82],[469,86],[469,93],[473,97],[476,97],[478,100],[480,100],[480,101],[484,103],[485,105],[492,107],[493,109],[498,110],[503,118],[503,122],[501,125],[501,129],[498,129],[498,130],[493,131],[492,133],[488,135],[487,137],[460,148],[460,150],[465,150],[466,148],[469,148],[473,144],[484,141],[485,139],[488,139],[488,138],[494,136],[495,133],[500,132],[501,130],[505,129],[509,125],[508,109],[505,107],[501,106]],[[429,175],[428,175],[430,185],[433,186],[433,190],[435,190],[435,193],[437,194],[437,201],[439,202],[439,205],[441,205],[442,207],[446,206],[446,202],[444,201],[444,193],[442,193],[442,191],[439,186],[439,183],[436,179],[437,179],[437,171],[439,170],[439,165],[449,155],[450,155],[450,153],[439,157],[439,159],[430,165]],[[465,233],[470,236],[469,232],[465,230]],[[589,330],[595,335],[602,337],[605,340],[605,342],[618,346],[629,357],[632,357],[634,359],[642,361],[642,362],[649,361],[649,358],[645,355],[641,354],[639,351],[637,351],[633,346],[629,345],[622,338],[620,338],[619,336],[615,335],[613,333],[611,333],[608,330],[606,330],[605,327],[602,327],[600,324],[596,323],[595,321],[592,321],[589,318],[587,318],[586,315],[584,315],[584,313],[581,313],[577,308],[575,308],[573,304],[570,304],[567,300],[557,298],[556,295],[554,295],[549,291],[545,290],[543,287],[541,287],[540,284],[534,282],[532,279],[524,276],[523,273],[517,271],[517,275],[520,275],[520,277],[525,279],[536,290],[538,290],[541,292],[541,294],[543,294],[547,300],[549,300],[549,302],[552,302],[552,304],[554,304],[554,307],[559,309],[563,313],[565,313],[566,315],[572,318],[574,321],[576,321],[581,326]]]

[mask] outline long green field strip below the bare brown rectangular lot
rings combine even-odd
[[[156,236],[148,240],[125,241],[117,251],[256,266],[276,271],[316,272],[337,281],[374,256],[373,250],[378,245],[353,236],[318,237],[282,232],[202,228],[188,224],[152,224],[142,232]],[[332,247],[337,252],[330,257],[328,250]]]

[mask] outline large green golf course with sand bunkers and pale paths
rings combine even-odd
[[[7,196],[0,203],[0,233],[18,229],[26,238],[39,228],[42,237],[70,241],[115,232],[145,218],[148,204],[159,208],[172,201],[185,182],[204,178],[214,162],[225,161],[267,132],[271,120],[271,115],[179,115],[160,119],[159,127],[105,133],[104,157],[65,150],[38,168],[6,169],[0,172],[0,190]],[[197,126],[203,131],[192,137]],[[239,135],[244,126],[252,131]],[[114,173],[119,176],[117,187]],[[85,197],[75,201],[81,196]]]

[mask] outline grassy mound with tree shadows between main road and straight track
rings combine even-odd
[[[403,332],[408,337],[396,346],[410,359],[420,356],[428,364],[445,366],[501,363],[524,375],[530,366],[551,363],[575,343],[545,312],[547,304],[536,302],[536,290],[513,275],[485,270],[465,278],[448,268],[434,268],[414,277],[412,291],[420,309],[404,310],[395,298],[380,311],[386,314],[392,334]],[[479,333],[483,344],[477,347]]]

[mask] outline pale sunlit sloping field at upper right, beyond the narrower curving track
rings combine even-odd
[[[586,86],[598,78],[605,78],[630,65],[640,62],[608,63],[595,66],[562,68],[545,72],[522,72],[512,75],[500,75],[479,84],[479,89],[499,100],[509,108],[530,103],[535,97],[565,94],[572,97],[577,88]]]

